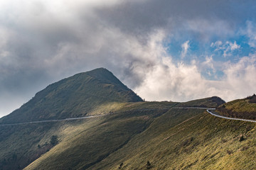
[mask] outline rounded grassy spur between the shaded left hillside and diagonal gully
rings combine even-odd
[[[82,131],[44,154],[43,162],[40,164],[39,159],[37,167],[32,169],[86,169],[125,145],[145,126],[143,118],[129,118]]]

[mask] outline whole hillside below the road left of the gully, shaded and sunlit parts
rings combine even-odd
[[[116,113],[99,118],[1,127],[0,169],[23,168],[41,154],[46,153],[41,156],[46,157],[50,152],[56,152],[50,161],[58,162],[65,157],[61,169],[69,166],[85,168],[125,145],[134,135],[145,130],[154,118],[174,105],[176,103],[138,102],[120,103],[119,106],[114,103],[112,106],[110,103],[110,106],[105,106],[113,108]],[[146,109],[147,106],[151,106],[150,109]],[[50,145],[52,135],[57,135],[60,140],[55,147]],[[55,169],[59,164],[54,162],[48,166]]]

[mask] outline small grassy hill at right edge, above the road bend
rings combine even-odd
[[[256,96],[230,101],[219,106],[216,111],[230,118],[256,120]]]

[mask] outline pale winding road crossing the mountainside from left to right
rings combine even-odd
[[[218,113],[215,113],[215,108],[199,108],[199,107],[173,107],[176,109],[203,109],[206,110],[210,115],[213,115],[218,118],[224,118],[228,120],[240,120],[240,121],[246,121],[246,122],[252,122],[256,123],[256,120],[247,120],[247,119],[240,119],[240,118],[228,118],[223,115],[218,115]],[[159,109],[137,109],[134,111],[153,111],[153,110],[159,110]],[[127,112],[127,111],[123,111]],[[68,120],[82,120],[82,119],[87,119],[87,118],[97,118],[97,117],[102,117],[105,115],[111,115],[114,113],[122,113],[122,112],[113,112],[113,113],[107,113],[107,114],[102,114],[102,115],[89,115],[89,116],[84,116],[80,118],[65,118],[65,119],[55,119],[55,120],[39,120],[39,121],[31,121],[31,122],[26,122],[26,123],[10,123],[10,124],[0,124],[1,126],[11,126],[11,125],[26,125],[26,124],[32,124],[32,123],[51,123],[51,122],[61,122],[61,121],[68,121]]]

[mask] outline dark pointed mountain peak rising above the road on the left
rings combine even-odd
[[[136,101],[142,98],[112,72],[99,68],[50,84],[0,123],[78,117],[104,103]]]

